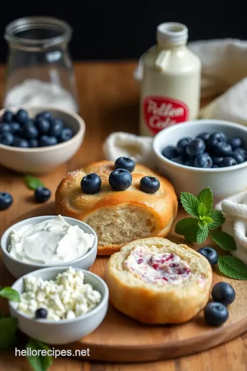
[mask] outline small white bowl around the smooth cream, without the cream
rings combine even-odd
[[[76,260],[73,260],[72,262],[64,262],[64,264],[34,264],[34,263],[28,263],[28,262],[21,262],[19,260],[16,260],[12,256],[10,256],[10,253],[8,252],[8,246],[10,245],[10,233],[11,231],[18,230],[24,225],[27,224],[37,224],[42,221],[46,221],[47,219],[54,218],[54,215],[47,215],[47,216],[35,216],[34,218],[28,218],[24,221],[21,221],[19,223],[16,223],[12,225],[10,228],[8,228],[1,237],[1,251],[3,256],[3,262],[5,264],[5,267],[8,269],[8,271],[14,276],[14,278],[20,278],[21,276],[24,276],[27,273],[30,273],[32,271],[36,271],[37,269],[43,269],[47,267],[63,267],[70,265],[70,267],[73,268],[81,268],[81,269],[90,269],[90,267],[95,262],[96,256],[97,256],[97,234],[93,230],[93,228],[89,227],[86,223],[83,223],[82,221],[78,221],[74,218],[68,218],[67,216],[63,216],[64,220],[67,221],[70,225],[78,225],[84,232],[88,234],[93,234],[95,237],[93,247],[81,258],[78,258]],[[35,246],[34,246],[35,249]]]

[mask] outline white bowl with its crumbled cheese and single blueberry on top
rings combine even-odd
[[[47,344],[68,344],[92,333],[108,309],[108,286],[94,273],[51,267],[14,282],[20,302],[9,302],[10,314],[27,336]]]

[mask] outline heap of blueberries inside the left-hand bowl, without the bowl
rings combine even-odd
[[[16,114],[5,111],[0,122],[0,144],[19,148],[55,146],[67,142],[73,131],[50,112],[40,112],[32,120],[27,111],[19,109]]]

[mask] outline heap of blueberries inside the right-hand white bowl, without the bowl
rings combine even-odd
[[[200,133],[195,139],[182,138],[176,146],[165,147],[162,155],[194,168],[226,168],[247,161],[242,138],[227,138],[224,133]]]

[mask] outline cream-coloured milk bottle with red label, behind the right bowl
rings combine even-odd
[[[140,134],[196,119],[200,105],[200,59],[187,49],[180,23],[157,27],[157,45],[143,56]]]

